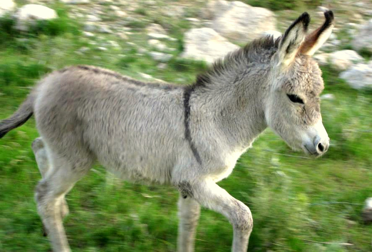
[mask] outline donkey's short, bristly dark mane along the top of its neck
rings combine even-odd
[[[266,59],[270,59],[271,56],[277,51],[279,47],[280,38],[274,39],[272,35],[261,37],[253,40],[246,46],[230,52],[224,58],[220,58],[215,61],[210,69],[205,73],[196,76],[196,81],[191,85],[191,89],[195,87],[205,87],[207,84],[211,84],[211,77],[219,77],[226,71],[234,70],[237,66],[248,65],[251,62],[264,63]],[[269,57],[265,58],[263,55],[268,54]]]

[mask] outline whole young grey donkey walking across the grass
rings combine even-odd
[[[307,34],[305,12],[278,39],[264,37],[217,61],[194,84],[142,83],[92,66],[46,76],[0,122],[0,137],[35,115],[33,150],[43,179],[35,198],[54,251],[70,251],[65,195],[95,161],[119,177],[180,191],[178,250],[193,251],[200,205],[233,226],[232,251],[247,251],[250,209],[216,182],[270,126],[293,149],[318,157],[329,147],[314,52],[327,40],[333,13]]]

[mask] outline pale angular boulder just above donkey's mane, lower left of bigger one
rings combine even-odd
[[[228,52],[239,49],[211,28],[195,28],[185,33],[183,58],[213,63]]]

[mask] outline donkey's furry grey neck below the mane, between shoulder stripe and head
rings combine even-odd
[[[209,83],[196,85],[190,94],[190,118],[196,118],[191,121],[216,130],[232,150],[250,147],[267,127],[263,101],[269,70],[269,64],[242,62],[209,76]]]

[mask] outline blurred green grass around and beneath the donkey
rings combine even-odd
[[[67,12],[62,7],[60,11]],[[80,35],[79,24],[64,18],[64,25],[75,28],[57,25],[52,33],[40,24],[39,32],[13,34],[7,30],[11,25],[0,22],[0,34],[10,36],[0,48],[0,118],[12,114],[44,74],[67,65],[92,64],[133,77],[143,72],[179,84],[192,83],[206,68],[178,57],[189,27],[185,20],[152,17],[168,22],[170,36],[179,40],[166,42],[177,51],[166,69],[158,69],[157,62],[139,55],[138,49],[146,47],[144,34],[130,36],[134,45],[120,42],[119,51],[96,51]],[[141,31],[145,24],[135,27]],[[115,39],[108,34],[103,40]],[[81,47],[92,50],[78,56]],[[371,92],[351,89],[329,67],[322,70],[324,93],[336,97],[321,103],[332,143],[328,153],[308,159],[267,130],[239,159],[232,175],[219,183],[252,210],[251,251],[372,250],[372,226],[364,225],[360,216],[364,200],[372,196]],[[0,251],[50,251],[33,200],[40,174],[30,145],[37,136],[31,118],[0,139]],[[67,195],[70,245],[82,252],[175,251],[177,198],[173,188],[112,181],[103,168],[94,167]],[[229,251],[232,228],[221,215],[203,209],[196,238],[196,251]]]

